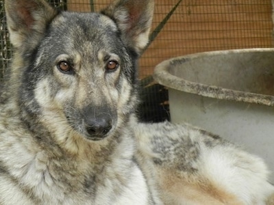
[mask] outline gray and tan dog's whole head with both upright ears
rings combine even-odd
[[[43,0],[6,0],[5,10],[18,81],[10,86],[23,112],[59,133],[117,135],[136,109],[136,60],[149,39],[153,1],[74,13]]]

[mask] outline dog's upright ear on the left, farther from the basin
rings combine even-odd
[[[5,0],[10,41],[19,51],[34,49],[57,12],[44,0]]]

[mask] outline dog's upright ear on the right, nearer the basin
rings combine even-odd
[[[116,0],[102,13],[116,22],[125,44],[140,54],[149,42],[153,9],[153,0]]]

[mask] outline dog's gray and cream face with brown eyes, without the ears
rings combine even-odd
[[[35,98],[32,107],[45,113],[62,110],[58,118],[86,138],[103,139],[134,111],[136,59],[107,16],[56,16],[34,55],[22,98]]]

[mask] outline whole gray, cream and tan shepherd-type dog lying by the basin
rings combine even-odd
[[[135,118],[152,0],[101,13],[5,0],[0,204],[271,204],[266,165],[206,131]]]

